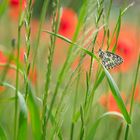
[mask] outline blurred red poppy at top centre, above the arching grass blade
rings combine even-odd
[[[72,38],[78,23],[77,14],[70,8],[63,8],[60,19],[59,34]]]

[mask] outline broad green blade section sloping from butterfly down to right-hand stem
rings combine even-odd
[[[109,84],[110,89],[112,91],[112,94],[113,94],[113,96],[114,96],[114,98],[115,98],[115,100],[117,102],[117,105],[118,105],[119,109],[121,110],[126,122],[128,124],[130,124],[131,119],[130,119],[130,116],[129,116],[127,110],[126,110],[124,102],[123,102],[123,100],[122,100],[122,98],[120,96],[119,88],[118,88],[117,84],[115,83],[115,81],[113,80],[113,78],[110,75],[110,73],[106,70],[106,68],[103,65],[102,65],[102,67],[103,67],[103,70],[104,70],[105,75],[107,77],[107,81],[108,81],[108,84]]]

